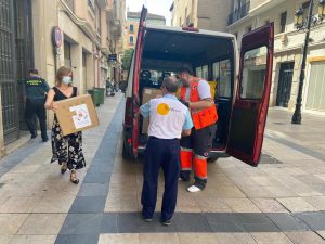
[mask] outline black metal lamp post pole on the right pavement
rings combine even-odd
[[[306,33],[306,39],[304,39],[304,46],[303,46],[303,53],[302,53],[302,63],[301,63],[301,69],[300,69],[300,77],[299,77],[299,89],[298,89],[298,95],[297,95],[297,103],[296,103],[296,110],[292,116],[292,124],[301,124],[301,105],[302,105],[302,90],[303,90],[303,80],[306,77],[306,60],[307,60],[307,52],[308,52],[308,46],[309,46],[309,35],[310,35],[310,28],[311,28],[311,22],[313,16],[313,7],[314,1],[310,1],[309,5],[309,15],[308,15],[308,22],[307,22],[307,33]]]

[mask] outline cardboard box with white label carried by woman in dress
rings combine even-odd
[[[57,101],[56,117],[63,136],[100,125],[96,110],[89,94]]]

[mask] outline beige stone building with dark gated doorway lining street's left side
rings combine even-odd
[[[0,0],[1,154],[26,129],[22,81],[29,68],[52,87],[57,68],[69,66],[81,94],[105,87],[118,66],[108,55],[123,49],[122,8],[125,0]]]

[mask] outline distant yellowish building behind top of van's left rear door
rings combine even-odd
[[[128,12],[125,25],[125,49],[133,49],[138,38],[140,12]],[[146,24],[166,25],[165,16],[151,14],[146,16]]]

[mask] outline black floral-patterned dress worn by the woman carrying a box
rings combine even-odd
[[[69,99],[63,94],[56,87],[53,88],[55,95],[54,101]],[[77,88],[74,87],[74,92],[70,98],[77,95]],[[52,126],[52,152],[51,163],[58,160],[58,164],[66,162],[68,169],[80,169],[86,166],[84,156],[82,153],[82,133],[72,133],[63,137],[62,131],[54,115]]]

